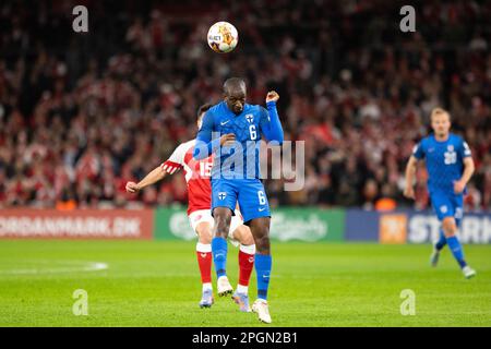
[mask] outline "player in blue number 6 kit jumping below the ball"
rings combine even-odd
[[[272,268],[270,251],[270,205],[260,180],[259,151],[261,134],[268,142],[283,143],[284,134],[276,110],[279,96],[270,92],[267,110],[246,103],[247,88],[242,79],[231,77],[224,84],[224,101],[212,107],[203,119],[196,137],[194,158],[215,154],[212,169],[212,213],[215,218],[212,252],[218,278],[218,294],[232,292],[227,279],[227,234],[237,203],[254,237],[258,275],[258,300],[252,311],[260,321],[271,323],[267,289]],[[239,288],[232,296],[249,309],[247,292]]]

